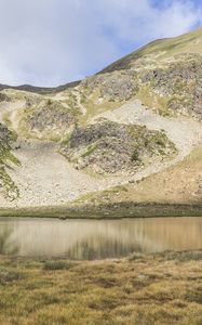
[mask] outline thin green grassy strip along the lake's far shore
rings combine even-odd
[[[202,217],[202,205],[133,202],[117,204],[73,204],[68,206],[0,208],[0,217],[60,219],[120,219],[149,217]]]

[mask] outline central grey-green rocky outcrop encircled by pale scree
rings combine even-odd
[[[75,129],[68,144],[62,147],[75,168],[92,168],[98,173],[136,171],[154,157],[162,159],[175,152],[163,132],[108,120]]]

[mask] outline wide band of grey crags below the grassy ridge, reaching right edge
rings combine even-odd
[[[188,115],[202,120],[201,54],[184,53],[161,61],[157,54],[150,54],[133,63],[126,70],[89,77],[80,87],[87,96],[97,92],[99,99],[109,102],[138,99],[138,91],[147,88],[140,100],[153,99],[151,108],[157,108],[160,114]],[[157,107],[157,96],[162,107]]]

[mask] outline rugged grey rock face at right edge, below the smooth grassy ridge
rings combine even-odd
[[[202,56],[184,54],[140,77],[151,91],[167,99],[167,108],[202,120]]]

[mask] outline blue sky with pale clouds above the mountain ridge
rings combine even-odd
[[[78,80],[201,25],[201,0],[0,0],[0,83]]]

